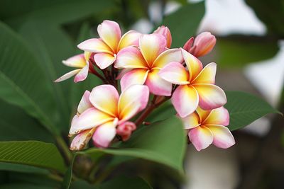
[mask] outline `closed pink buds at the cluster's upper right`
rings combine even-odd
[[[197,35],[195,40],[194,38],[187,40],[183,46],[183,49],[185,49],[187,52],[190,52],[195,57],[202,57],[211,52],[215,44],[215,36],[209,32],[203,32],[200,33],[200,35]]]

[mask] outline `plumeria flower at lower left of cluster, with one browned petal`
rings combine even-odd
[[[146,108],[148,97],[148,87],[142,85],[133,85],[120,96],[111,85],[97,86],[91,93],[86,91],[71,122],[69,134],[77,136],[70,149],[83,149],[91,137],[97,147],[108,147],[116,135],[116,127],[131,125],[128,129],[132,132],[136,126],[128,120]],[[129,138],[131,132],[123,134]]]

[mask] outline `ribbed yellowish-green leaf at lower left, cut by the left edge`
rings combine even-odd
[[[0,142],[0,162],[50,168],[64,173],[66,168],[54,144],[39,141]]]

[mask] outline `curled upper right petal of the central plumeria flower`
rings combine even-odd
[[[163,68],[170,62],[183,62],[183,57],[180,49],[165,50],[165,52],[162,52],[158,56],[158,58],[155,59],[152,67]]]

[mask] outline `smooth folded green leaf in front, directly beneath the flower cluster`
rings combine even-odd
[[[90,156],[104,153],[146,159],[164,164],[182,174],[185,147],[186,138],[182,122],[172,116],[167,120],[155,122],[153,125],[134,132],[131,139],[119,144],[119,149],[93,148],[82,153],[87,153]]]

